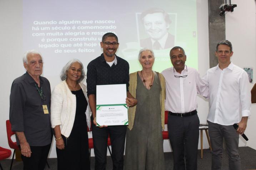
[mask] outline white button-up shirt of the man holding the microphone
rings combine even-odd
[[[231,62],[221,70],[218,64],[207,70],[202,80],[209,86],[208,121],[227,126],[239,123],[241,116],[251,115],[249,79],[243,69]]]

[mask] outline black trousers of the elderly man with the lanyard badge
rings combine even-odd
[[[51,143],[41,147],[30,146],[31,156],[27,158],[21,155],[23,170],[44,170],[50,148]]]

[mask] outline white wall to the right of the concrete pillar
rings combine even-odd
[[[256,2],[255,0],[232,0],[237,4],[234,12],[226,14],[226,39],[232,43],[234,54],[232,62],[237,66],[254,68],[254,83],[256,83]],[[250,85],[252,88],[253,84]],[[240,140],[239,146],[249,146],[256,149],[256,104],[251,107],[252,116],[248,120],[246,136],[248,142]]]

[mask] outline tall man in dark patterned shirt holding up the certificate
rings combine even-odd
[[[119,46],[114,33],[106,33],[100,42],[103,53],[87,66],[87,95],[92,111],[92,136],[95,153],[95,169],[106,169],[107,138],[110,134],[113,169],[122,170],[124,165],[124,147],[126,126],[96,127],[96,85],[126,84],[127,106],[134,106],[137,100],[128,91],[129,64],[115,55]],[[113,89],[113,93],[115,89]]]

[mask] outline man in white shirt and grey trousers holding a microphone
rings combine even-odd
[[[239,134],[245,132],[248,116],[251,115],[248,75],[231,62],[231,42],[219,42],[215,55],[219,64],[209,69],[202,79],[209,87],[207,122],[212,146],[212,170],[221,169],[223,138],[229,155],[229,169],[240,170]],[[239,125],[237,130],[233,127],[234,123]]]

